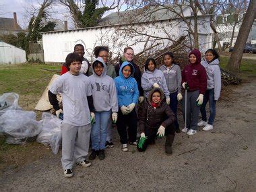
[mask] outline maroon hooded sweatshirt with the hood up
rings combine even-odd
[[[206,71],[203,65],[201,65],[201,53],[198,49],[194,49],[189,53],[189,56],[194,54],[197,57],[195,63],[186,65],[181,73],[182,81],[181,84],[187,82],[189,85],[189,92],[199,90],[200,94],[204,94],[207,88],[207,77]]]

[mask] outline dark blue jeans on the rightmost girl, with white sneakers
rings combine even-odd
[[[208,124],[214,125],[214,119],[216,115],[216,100],[214,100],[214,89],[206,90],[203,96],[203,104],[201,105],[201,108],[200,108],[203,121],[207,121],[205,106],[208,101],[209,101],[209,108],[210,108],[210,117],[208,119]]]

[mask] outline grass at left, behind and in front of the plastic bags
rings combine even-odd
[[[53,71],[47,71],[49,69]],[[36,103],[49,84],[53,74],[59,74],[60,65],[20,64],[0,65],[0,95],[5,92],[19,94],[19,105],[24,110],[34,110]],[[56,72],[55,72],[56,71]],[[40,117],[40,113],[37,113]],[[18,166],[22,162],[30,162],[47,149],[40,143],[26,143],[22,146],[11,146],[5,143],[5,138],[0,135],[0,169],[12,164]],[[49,150],[48,150],[49,151]],[[31,154],[31,156],[28,156]],[[1,172],[0,172],[1,173]]]

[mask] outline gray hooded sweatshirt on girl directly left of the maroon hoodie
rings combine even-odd
[[[177,91],[181,93],[181,68],[179,65],[172,64],[170,68],[162,65],[159,69],[164,73],[169,92],[171,94]]]

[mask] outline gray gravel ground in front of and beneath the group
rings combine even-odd
[[[75,166],[73,178],[63,176],[59,152],[5,170],[1,191],[256,191],[255,90],[256,79],[234,87],[217,104],[214,129],[177,134],[172,156],[164,154],[164,139],[143,153],[131,146],[122,152],[114,130],[106,159]]]

